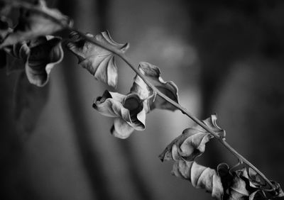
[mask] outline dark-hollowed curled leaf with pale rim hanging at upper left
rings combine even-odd
[[[50,71],[62,61],[61,38],[40,37],[30,47],[26,60],[26,74],[31,84],[43,87],[48,82]]]

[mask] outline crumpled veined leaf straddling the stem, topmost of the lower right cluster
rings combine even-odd
[[[210,129],[219,135],[224,134],[224,130],[217,126],[217,116],[212,115],[203,121]],[[160,160],[195,160],[195,157],[202,155],[205,144],[213,136],[199,125],[187,128],[182,135],[175,138],[167,148],[159,155]]]

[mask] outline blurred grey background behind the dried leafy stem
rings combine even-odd
[[[133,63],[160,67],[179,87],[180,103],[198,118],[218,114],[227,141],[268,179],[284,185],[284,1],[58,0],[48,1],[82,32],[109,30],[129,42]],[[117,91],[126,94],[135,74],[116,59]],[[179,111],[155,110],[146,130],[127,140],[110,135],[113,119],[92,109],[108,88],[77,59],[51,72],[37,113],[26,130],[13,116],[18,74],[0,74],[0,199],[211,199],[170,174],[158,155],[192,121]],[[114,89],[112,89],[114,90]],[[19,96],[25,99],[25,96]],[[33,102],[33,99],[29,99]],[[28,111],[26,111],[28,112]],[[40,115],[38,115],[40,113]],[[216,141],[197,162],[236,164]]]

